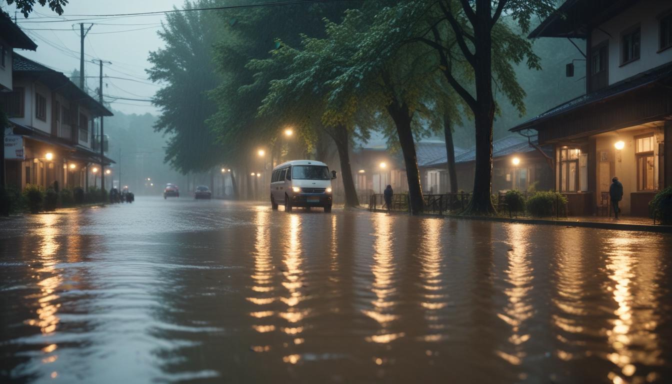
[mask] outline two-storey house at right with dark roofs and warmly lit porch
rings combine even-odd
[[[614,176],[623,213],[648,215],[672,185],[672,3],[565,1],[529,37],[585,39],[586,93],[511,131],[536,131],[553,147],[570,215],[596,213]]]

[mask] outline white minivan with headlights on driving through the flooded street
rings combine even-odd
[[[294,206],[321,206],[331,212],[331,180],[327,164],[314,160],[294,160],[273,169],[271,176],[271,207],[283,204],[287,212]]]

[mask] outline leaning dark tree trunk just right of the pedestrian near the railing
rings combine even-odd
[[[411,204],[411,214],[418,215],[425,208],[425,198],[422,196],[422,186],[420,184],[420,170],[418,169],[417,155],[415,154],[415,142],[413,141],[413,131],[411,130],[411,114],[409,106],[401,106],[393,101],[388,106],[388,112],[396,125],[396,134],[399,137],[401,151],[406,165],[406,178],[409,183],[409,203]]]

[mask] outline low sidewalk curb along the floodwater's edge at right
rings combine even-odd
[[[374,209],[370,212],[388,213],[386,210]],[[408,215],[402,211],[391,211],[391,213]],[[437,217],[442,219],[466,219],[480,221],[497,221],[499,223],[519,223],[519,224],[542,224],[542,225],[562,225],[564,227],[582,227],[597,229],[614,229],[617,231],[643,231],[656,233],[672,233],[672,225],[647,225],[647,224],[626,224],[626,223],[598,223],[595,221],[569,221],[569,220],[549,220],[549,219],[519,219],[494,216],[462,216],[462,215],[435,215],[432,213],[421,213],[423,217]]]

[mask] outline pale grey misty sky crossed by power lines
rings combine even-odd
[[[91,60],[101,58],[112,62],[112,65],[103,67],[103,75],[134,80],[103,79],[103,93],[123,98],[149,99],[159,87],[146,84],[151,81],[147,80],[144,69],[149,67],[147,62],[149,51],[163,46],[157,31],[160,29],[160,23],[165,20],[164,15],[104,19],[77,15],[164,11],[182,3],[181,0],[70,0],[65,7],[65,13],[60,17],[48,7],[36,6],[36,12],[28,19],[18,13],[17,21],[26,34],[38,44],[38,48],[36,52],[28,50],[17,52],[69,76],[73,69],[79,69],[79,23],[84,22],[85,28],[93,23],[93,28],[87,34],[84,44],[85,73],[87,76],[95,76],[87,78],[88,87],[95,89],[98,86],[99,67],[91,63]],[[3,9],[14,16],[15,7],[4,3]],[[97,20],[91,20],[94,18]],[[54,22],[59,19],[67,21]],[[132,31],[115,32],[126,30]],[[126,113],[158,113],[157,108],[149,102],[117,100],[112,102],[112,108]]]

